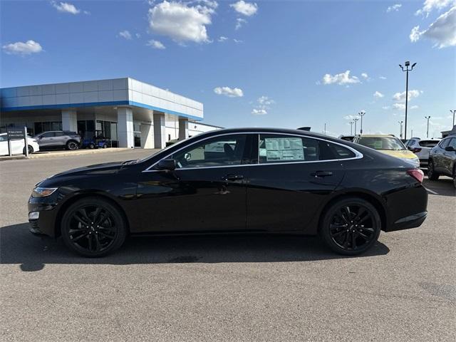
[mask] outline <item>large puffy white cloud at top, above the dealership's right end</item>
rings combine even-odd
[[[206,26],[212,23],[211,16],[215,13],[217,2],[198,1],[195,6],[190,4],[163,1],[155,5],[149,9],[150,29],[177,43],[209,43]]]

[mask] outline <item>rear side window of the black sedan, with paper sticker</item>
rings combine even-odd
[[[314,138],[293,135],[261,134],[259,137],[259,163],[315,162],[355,157],[346,147]]]

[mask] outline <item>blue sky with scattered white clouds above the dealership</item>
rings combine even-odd
[[[408,137],[456,109],[456,0],[1,0],[0,19],[1,88],[128,76],[212,125],[338,136],[365,111],[364,133],[399,135],[410,61]]]

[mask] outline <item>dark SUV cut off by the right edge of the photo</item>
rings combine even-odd
[[[429,152],[427,177],[438,180],[440,175],[452,177],[456,187],[456,135],[442,139]]]

